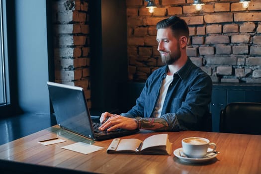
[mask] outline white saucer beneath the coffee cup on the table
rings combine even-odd
[[[208,149],[209,151],[211,151],[212,149]],[[217,154],[215,153],[210,153],[208,157],[203,157],[203,158],[188,158],[188,157],[181,157],[179,154],[179,151],[183,151],[182,148],[178,148],[176,150],[174,150],[174,155],[179,158],[181,161],[186,162],[186,163],[205,163],[207,161],[210,161],[211,159],[215,158],[217,156]],[[213,154],[213,155],[212,155]]]

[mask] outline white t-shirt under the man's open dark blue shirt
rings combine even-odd
[[[161,117],[161,111],[162,111],[162,107],[164,104],[164,100],[165,100],[168,88],[169,88],[170,84],[172,83],[172,81],[173,81],[173,75],[171,75],[171,76],[167,75],[166,78],[162,82],[160,96],[159,96],[158,102],[155,106],[155,110],[153,112],[154,118]]]

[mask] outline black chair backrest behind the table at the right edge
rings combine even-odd
[[[220,132],[261,135],[261,103],[229,103],[220,113]]]

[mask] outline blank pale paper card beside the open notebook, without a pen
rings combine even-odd
[[[94,145],[86,144],[83,142],[74,143],[74,144],[71,144],[68,146],[64,146],[62,148],[71,150],[71,151],[75,151],[75,152],[80,152],[82,154],[89,154],[89,153],[104,149],[103,147],[94,146]]]

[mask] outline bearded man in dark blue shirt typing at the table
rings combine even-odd
[[[204,130],[212,81],[187,57],[187,24],[172,16],[158,22],[157,30],[158,51],[166,66],[151,74],[136,105],[127,113],[102,113],[100,130]]]

